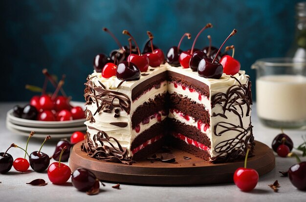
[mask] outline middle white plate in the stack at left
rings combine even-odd
[[[40,134],[67,134],[70,133],[72,135],[75,131],[86,131],[86,125],[83,125],[81,127],[73,127],[73,128],[34,128],[34,127],[25,127],[25,126],[19,126],[11,123],[10,121],[6,120],[6,126],[10,128],[14,128],[19,131],[28,132],[34,131],[35,133]]]

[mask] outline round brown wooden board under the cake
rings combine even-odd
[[[148,185],[192,185],[233,182],[233,174],[244,161],[213,164],[181,150],[172,150],[177,163],[163,163],[144,159],[133,165],[97,160],[81,151],[81,143],[76,144],[70,154],[72,171],[83,167],[92,171],[104,181],[148,184]],[[158,156],[158,153],[157,153]],[[185,157],[191,157],[185,160]],[[272,149],[256,141],[255,156],[248,158],[248,168],[256,169],[261,176],[275,167]]]

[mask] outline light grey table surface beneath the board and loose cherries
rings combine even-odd
[[[0,103],[0,152],[4,152],[11,143],[25,147],[26,137],[12,133],[6,129],[5,119],[6,112],[20,103]],[[273,138],[280,133],[278,129],[267,128],[263,126],[256,114],[256,105],[252,106],[252,123],[255,139],[267,145],[271,145]],[[295,146],[302,143],[302,135],[306,131],[302,130],[285,130]],[[28,151],[37,151],[42,143],[42,139],[31,138]],[[47,142],[42,152],[52,155],[55,149],[56,141]],[[11,148],[9,153],[15,158],[23,157],[24,152],[17,148]],[[302,157],[306,160],[306,157]],[[51,160],[51,163],[54,162]],[[276,167],[270,173],[259,178],[256,188],[251,192],[240,191],[234,183],[218,185],[201,185],[201,186],[139,186],[121,184],[121,189],[112,188],[114,184],[105,183],[101,187],[98,195],[88,196],[86,193],[79,192],[75,189],[71,180],[65,185],[52,184],[46,172],[36,173],[31,168],[31,172],[22,174],[14,168],[7,174],[0,174],[0,202],[40,202],[40,201],[165,201],[165,202],[186,202],[186,201],[244,201],[244,202],[306,202],[306,191],[297,190],[286,177],[281,177],[279,171],[287,170],[292,164],[296,163],[295,158],[276,157]],[[46,186],[36,187],[26,184],[35,179],[44,179],[49,182]],[[278,180],[281,187],[279,192],[275,193],[268,186],[275,180]]]

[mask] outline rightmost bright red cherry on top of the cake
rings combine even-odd
[[[235,46],[234,45],[226,46],[225,51],[229,49],[233,49],[232,56],[224,55],[219,63],[223,66],[224,73],[226,73],[227,75],[235,75],[240,70],[240,62],[234,59]]]

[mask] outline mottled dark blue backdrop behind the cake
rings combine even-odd
[[[294,38],[294,5],[297,0],[1,0],[0,78],[1,101],[25,101],[34,95],[25,84],[42,86],[42,69],[66,74],[64,89],[73,100],[83,101],[86,77],[98,53],[117,48],[102,31],[108,27],[123,44],[128,29],[138,44],[154,35],[154,44],[164,51],[177,45],[184,32],[194,37],[207,22],[197,47],[208,45],[212,36],[219,46],[233,28],[238,34],[235,58],[251,75],[251,64],[262,57],[281,57]],[[191,47],[186,40],[183,49]],[[4,86],[3,86],[4,85]],[[253,85],[254,87],[255,85]],[[253,88],[253,94],[255,94]],[[50,88],[49,90],[53,90]]]

